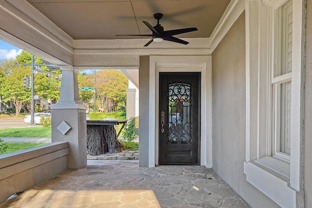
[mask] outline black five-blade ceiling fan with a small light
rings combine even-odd
[[[145,37],[152,37],[150,41],[148,41],[144,46],[148,46],[151,44],[153,41],[154,42],[161,42],[163,40],[171,41],[171,42],[177,42],[181,44],[188,44],[189,42],[173,37],[174,35],[182,34],[182,33],[188,33],[192,31],[196,31],[197,28],[191,27],[191,28],[183,28],[183,29],[177,29],[177,30],[167,30],[164,31],[163,26],[159,24],[159,19],[162,18],[161,13],[156,13],[154,14],[154,18],[157,19],[157,25],[152,26],[149,22],[143,21],[143,23],[153,32],[153,34],[150,35],[117,35],[117,36],[145,36]]]

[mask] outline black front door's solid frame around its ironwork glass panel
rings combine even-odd
[[[187,74],[186,74],[187,73]],[[158,148],[158,164],[160,164],[161,161],[161,155],[165,155],[167,153],[168,150],[171,149],[170,146],[174,146],[175,148],[181,148],[186,152],[188,151],[189,156],[190,153],[192,152],[192,156],[182,156],[184,157],[185,160],[189,160],[191,159],[191,161],[183,161],[184,159],[180,160],[180,162],[164,162],[162,161],[162,164],[172,164],[172,165],[200,165],[200,132],[201,132],[201,108],[200,108],[200,98],[201,98],[201,72],[159,72],[159,111],[164,110],[165,114],[164,114],[164,118],[165,118],[165,133],[161,133],[158,132],[158,145],[159,147],[162,147],[164,149],[166,149],[166,151],[161,151]],[[177,78],[176,76],[179,76],[179,78]],[[164,83],[161,83],[161,79],[163,78]],[[166,81],[165,81],[166,80]],[[192,103],[192,105],[190,105],[190,112],[191,116],[190,116],[190,120],[189,122],[192,123],[191,125],[191,129],[192,129],[192,133],[191,133],[191,144],[185,144],[185,143],[181,143],[181,144],[177,144],[177,143],[172,143],[172,144],[167,144],[167,134],[166,132],[168,131],[168,119],[169,119],[169,113],[167,112],[168,110],[168,83],[169,82],[175,82],[177,83],[178,81],[182,81],[184,84],[191,84],[191,94],[189,95],[189,97],[186,95],[186,99],[188,100],[187,102],[190,102],[190,104]],[[162,95],[161,92],[163,92],[165,95]],[[186,93],[186,92],[185,92]],[[161,99],[163,98],[163,100]],[[190,101],[189,99],[191,99],[192,101]],[[184,103],[182,102],[182,109],[184,109]],[[167,109],[167,110],[166,110]],[[177,105],[176,105],[176,109],[178,109]],[[197,111],[197,113],[195,113]],[[168,116],[168,117],[167,117]],[[176,115],[177,116],[177,115]],[[160,125],[161,119],[160,119],[160,113],[158,114],[158,125]],[[177,118],[177,117],[176,117]],[[199,119],[196,119],[199,118]],[[183,123],[184,124],[184,123]],[[159,128],[158,128],[159,129]],[[198,131],[199,130],[199,131]],[[162,142],[159,140],[161,138]],[[190,149],[189,149],[190,148]],[[172,150],[172,149],[171,149]],[[190,152],[191,151],[191,152]],[[176,156],[181,158],[181,156]],[[163,158],[164,159],[164,158]],[[173,158],[172,158],[173,159]],[[176,159],[176,158],[175,158]],[[196,162],[195,162],[196,159]],[[166,157],[166,159],[168,161],[168,158]]]

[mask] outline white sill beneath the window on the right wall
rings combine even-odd
[[[274,163],[275,162],[275,163]],[[271,165],[279,168],[278,172]],[[259,189],[281,207],[295,207],[296,191],[290,188],[285,167],[287,162],[274,157],[261,158],[257,161],[245,162],[244,173],[246,179],[255,188]],[[288,169],[289,172],[290,169]],[[286,175],[285,175],[286,174]]]

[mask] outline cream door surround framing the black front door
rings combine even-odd
[[[211,64],[211,56],[150,56],[149,167],[157,166],[159,157],[159,72],[200,72],[200,165],[212,168]]]

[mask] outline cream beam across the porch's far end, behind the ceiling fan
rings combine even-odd
[[[143,45],[148,39],[74,40],[74,65],[87,67],[138,67],[139,56],[151,55],[211,55],[209,38],[185,38],[190,43],[182,45],[161,42]]]

